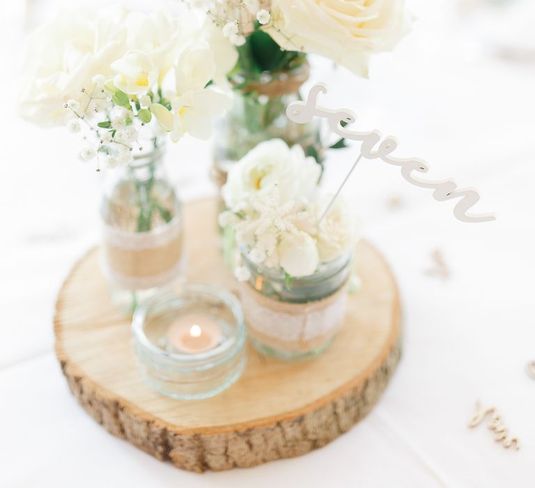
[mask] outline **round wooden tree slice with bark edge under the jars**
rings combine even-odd
[[[185,207],[190,281],[233,289],[217,243],[215,201]],[[216,397],[179,401],[146,386],[137,371],[130,321],[112,305],[98,250],[72,269],[59,293],[56,354],[79,404],[111,434],[189,471],[249,467],[303,455],[370,411],[400,355],[396,284],[380,254],[357,246],[362,290],[346,323],[318,358],[283,363],[249,348],[245,372]]]

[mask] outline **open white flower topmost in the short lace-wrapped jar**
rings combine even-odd
[[[222,195],[228,208],[255,193],[267,194],[277,185],[281,201],[309,197],[316,190],[321,168],[301,146],[289,148],[282,139],[261,142],[228,172]]]

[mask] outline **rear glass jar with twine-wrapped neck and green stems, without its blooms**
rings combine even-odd
[[[305,62],[290,71],[242,73],[233,78],[233,107],[215,125],[212,177],[219,188],[235,162],[269,139],[284,139],[289,146],[300,144],[318,162],[322,159],[319,120],[300,124],[286,116],[286,107],[302,100],[300,88],[309,71]]]

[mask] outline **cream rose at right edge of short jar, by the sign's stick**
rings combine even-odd
[[[318,217],[325,211],[331,198],[324,199],[317,206]],[[341,199],[336,199],[318,226],[316,234],[320,261],[332,261],[346,254],[357,242],[355,217],[349,206]]]

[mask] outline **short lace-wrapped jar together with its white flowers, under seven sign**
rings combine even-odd
[[[235,275],[251,342],[283,359],[315,356],[343,323],[355,218],[317,190],[320,167],[301,146],[262,142],[228,174],[227,211],[239,250]]]

